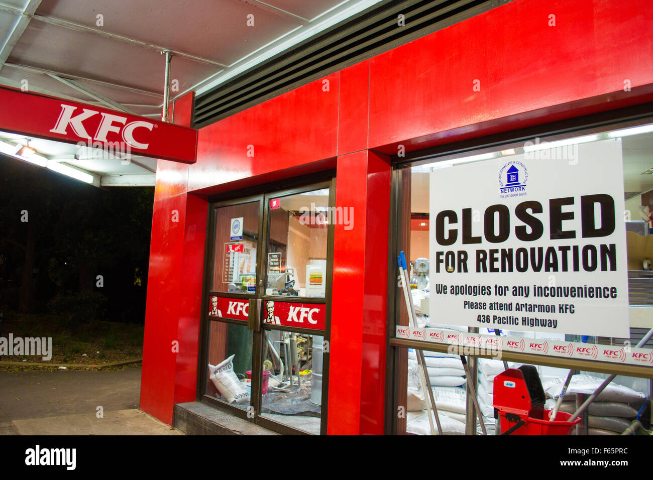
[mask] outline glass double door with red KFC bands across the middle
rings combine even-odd
[[[212,206],[203,400],[326,432],[333,204],[323,182]]]

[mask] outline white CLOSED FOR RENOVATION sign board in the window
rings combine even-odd
[[[438,323],[629,337],[621,141],[430,174]]]

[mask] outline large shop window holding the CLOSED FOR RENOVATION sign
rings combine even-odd
[[[406,255],[416,325],[413,332],[411,314],[398,287],[393,300],[396,334],[390,344],[396,345],[394,408],[404,408],[406,415],[393,415],[394,432],[432,433],[424,400],[428,392],[422,389],[428,377],[444,433],[481,433],[477,416],[470,417],[463,353],[475,378],[471,385],[486,431],[498,434],[494,378],[506,366],[522,365],[504,364],[502,351],[507,353],[508,341],[526,345],[522,352],[542,359],[534,366],[545,391],[545,409],[553,407],[552,397],[559,394],[569,368],[574,368],[575,375],[562,402],[564,413],[573,413],[576,402],[582,404],[608,376],[599,373],[605,371],[600,360],[617,365],[611,371],[622,375],[584,411],[581,423],[573,428],[575,434],[621,434],[631,425],[640,434],[650,430],[653,361],[645,359],[653,358],[653,340],[641,350],[635,347],[653,327],[653,125],[601,127],[545,140],[549,143],[537,138],[398,167],[396,245]],[[574,168],[583,173],[577,175]],[[487,172],[483,181],[478,180],[478,172]],[[563,193],[567,174],[578,180],[573,190],[568,189],[570,193]],[[449,184],[443,184],[442,178]],[[593,188],[610,181],[617,187],[622,182],[623,187],[623,191],[605,191],[614,194],[613,199]],[[541,199],[528,195],[536,188],[542,192]],[[455,201],[449,201],[453,197]],[[520,202],[511,199],[520,197],[530,203],[516,212]],[[537,200],[541,201],[534,203]],[[456,208],[450,208],[452,204]],[[622,233],[614,238],[611,231]],[[521,243],[508,245],[515,236]],[[609,240],[597,240],[602,236]],[[546,238],[553,248],[547,249],[545,242],[535,238]],[[396,271],[392,270],[393,278]],[[537,278],[532,275],[535,271]],[[471,275],[465,276],[466,272]],[[611,272],[618,272],[620,278],[610,276]],[[518,275],[532,278],[521,282]],[[530,287],[528,296],[525,290],[512,290],[519,286]],[[502,292],[496,287],[509,289]],[[574,295],[569,294],[571,287]],[[502,298],[497,299],[498,295]],[[615,314],[609,320],[606,312],[613,307]],[[601,330],[592,321],[606,328]],[[623,328],[612,328],[609,321]],[[434,332],[443,332],[451,340]],[[474,349],[474,338],[492,341],[497,333],[502,347],[485,352]],[[432,334],[438,338],[419,338]],[[469,341],[460,340],[466,336]],[[424,376],[419,353],[406,347],[406,342],[424,348]],[[540,351],[529,352],[537,348]],[[571,350],[569,355],[560,354],[565,348]],[[637,352],[644,359],[639,363],[633,357]],[[585,360],[579,364],[582,368],[571,366],[577,359]],[[643,370],[644,365],[650,373]],[[635,371],[637,376],[628,376]]]

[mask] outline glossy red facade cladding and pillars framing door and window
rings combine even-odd
[[[637,3],[517,0],[201,129],[195,165],[159,162],[141,408],[170,423],[174,402],[193,398],[206,203],[183,193],[337,165],[336,206],[354,208],[354,223],[336,225],[334,239],[328,432],[382,433],[390,167],[366,149],[415,150],[651,101],[652,27],[653,10]],[[189,119],[184,102],[175,115]],[[176,338],[191,353],[168,353]]]

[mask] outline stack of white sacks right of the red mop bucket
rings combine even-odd
[[[565,379],[560,377],[543,382],[548,400],[545,408],[552,409],[560,396]],[[592,394],[603,382],[602,378],[590,375],[571,377],[569,388],[565,392],[560,411],[576,411],[576,394]],[[605,390],[588,407],[589,435],[620,435],[637,417],[637,411],[643,406],[646,396],[623,385],[610,383]]]

